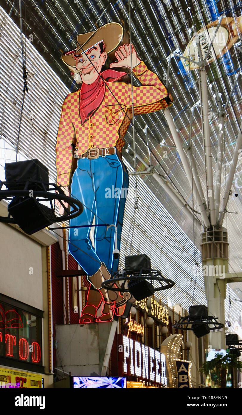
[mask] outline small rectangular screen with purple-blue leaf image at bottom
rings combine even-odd
[[[75,389],[120,389],[126,387],[126,378],[73,377],[73,388]]]

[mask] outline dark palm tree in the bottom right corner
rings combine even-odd
[[[206,375],[210,374],[211,380],[219,385],[220,388],[226,388],[227,370],[242,369],[242,362],[237,360],[235,354],[216,353],[210,361],[204,362],[201,366],[201,372]]]

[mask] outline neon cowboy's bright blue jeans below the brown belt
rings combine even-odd
[[[117,188],[124,191],[120,193]],[[92,160],[78,159],[71,193],[82,202],[84,210],[70,220],[70,226],[114,224],[120,249],[125,189],[128,189],[128,171],[117,154]],[[108,230],[106,226],[70,228],[68,250],[87,275],[96,273],[101,262],[111,275],[117,272],[119,259],[113,256],[114,229],[113,226]]]

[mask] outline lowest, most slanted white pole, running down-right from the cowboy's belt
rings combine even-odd
[[[133,150],[131,147],[130,147],[130,149],[131,149],[131,151]],[[140,160],[141,163],[144,164],[144,166],[146,168],[150,167],[138,154],[137,154],[137,159]],[[145,172],[144,172],[144,174],[145,174]],[[189,217],[189,219],[191,219],[191,221],[193,221],[194,218],[195,218],[195,223],[200,229],[201,228],[201,223],[199,222],[198,219],[196,219],[196,217],[193,215],[192,211],[187,207],[186,203],[184,203],[179,198],[177,193],[175,193],[175,191],[170,187],[169,181],[165,180],[165,178],[162,178],[162,176],[160,176],[156,171],[155,171],[155,173],[152,174],[152,176],[160,184],[160,186],[162,186],[162,188],[166,191],[166,193],[170,196],[170,198],[172,198],[172,200],[174,200],[174,202],[177,204],[177,206],[179,206],[182,209],[182,212],[184,212],[186,214],[186,216]]]

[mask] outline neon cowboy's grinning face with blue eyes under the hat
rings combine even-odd
[[[85,53],[74,54],[76,68],[80,71],[82,82],[91,84],[98,78],[102,66],[106,62],[106,52],[101,53],[100,46],[92,46]]]

